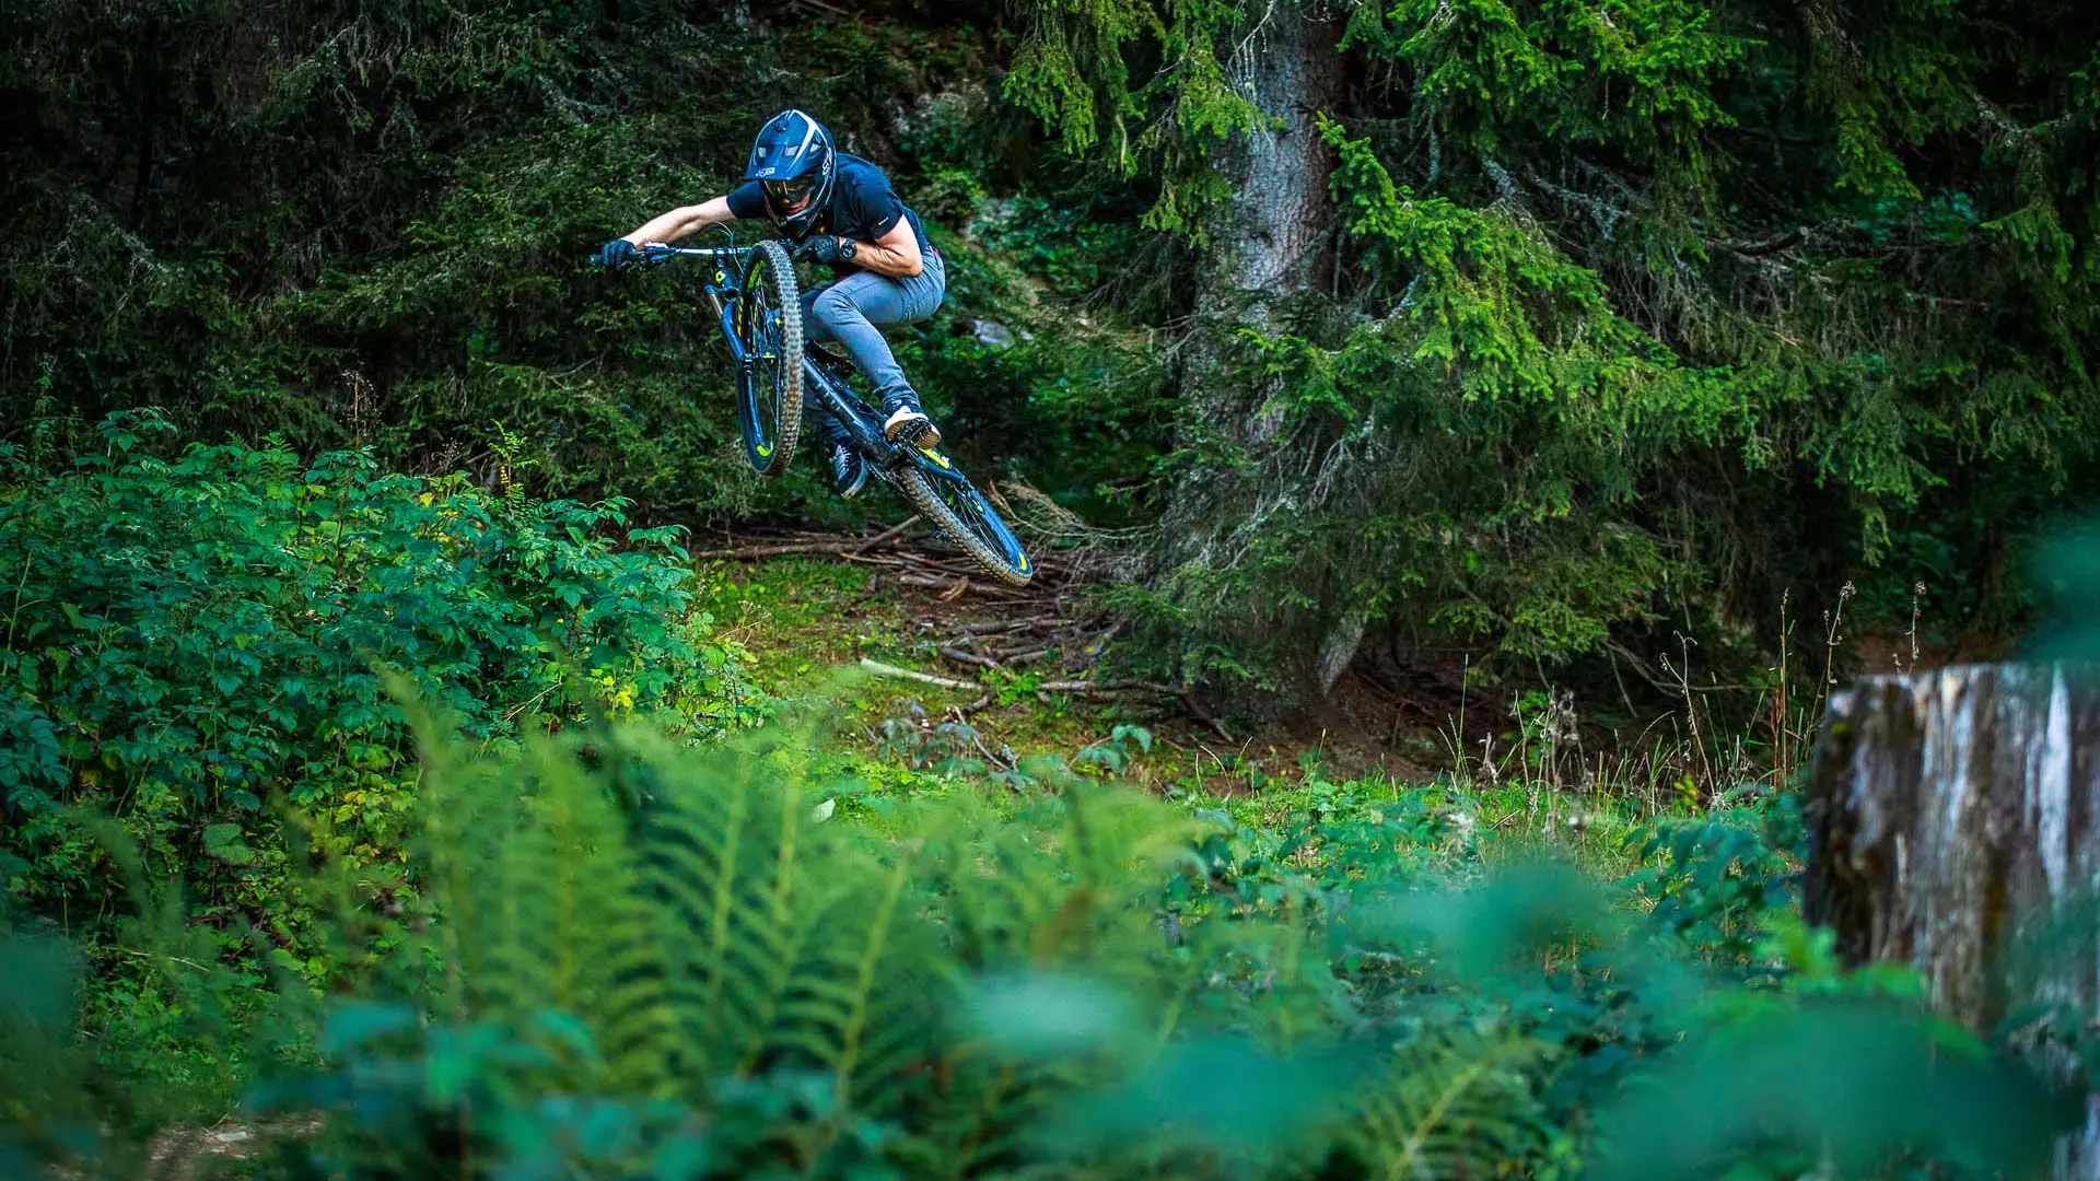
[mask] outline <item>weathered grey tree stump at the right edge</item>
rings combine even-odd
[[[1915,965],[1945,1015],[1991,1030],[2031,1000],[2100,1017],[2100,677],[1957,666],[1833,693],[1808,801],[1806,916],[1852,962]],[[2083,923],[2033,939],[2066,914]],[[2039,1065],[2068,1080],[2064,1051]],[[2100,1181],[2100,1101],[2056,1177]]]

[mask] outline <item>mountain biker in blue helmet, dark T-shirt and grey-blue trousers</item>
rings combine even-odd
[[[897,198],[880,168],[838,151],[832,132],[790,109],[766,120],[752,143],[743,183],[727,195],[657,214],[598,252],[607,267],[640,261],[640,244],[676,242],[687,233],[739,219],[771,219],[779,231],[838,273],[802,296],[811,340],[836,340],[882,397],[882,433],[914,446],[934,446],[941,431],[926,418],[880,328],[926,319],[947,294],[947,267],[926,240],[920,216]],[[804,401],[808,406],[808,401]],[[832,475],[842,496],[867,483],[867,464],[846,429],[830,414],[811,414],[832,439]]]

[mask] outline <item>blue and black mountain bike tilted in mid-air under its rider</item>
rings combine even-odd
[[[783,242],[655,244],[640,252],[651,265],[697,258],[712,267],[708,305],[737,361],[737,427],[752,471],[764,477],[788,471],[808,393],[813,410],[846,427],[869,473],[895,488],[987,574],[1008,586],[1027,586],[1035,563],[956,460],[939,448],[892,443],[882,433],[882,414],[846,385],[848,361],[804,347],[796,256]]]

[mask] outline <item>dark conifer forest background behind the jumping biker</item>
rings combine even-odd
[[[1121,609],[1189,679],[1317,698],[1466,651],[1670,683],[1672,633],[1770,664],[1844,586],[1989,651],[2094,490],[2071,0],[4,17],[17,446],[158,406],[838,521],[737,471],[695,292],[586,265],[802,105],[960,261],[903,336],[974,471],[1151,527]]]

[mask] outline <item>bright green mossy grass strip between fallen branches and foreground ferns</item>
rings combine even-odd
[[[1268,832],[1413,803],[1470,830],[1470,847],[1489,864],[1554,851],[1604,872],[1632,872],[1655,820],[1697,811],[1678,792],[1642,790],[1632,765],[1596,792],[1491,782],[1457,769],[1365,771],[1361,750],[1336,757],[1327,735],[1312,744],[1283,735],[1224,744],[1193,719],[1144,700],[1029,693],[1023,681],[958,668],[937,651],[937,637],[960,624],[998,620],[993,607],[941,603],[928,590],[880,578],[874,565],[830,557],[708,563],[701,584],[701,607],[724,641],[750,654],[756,687],[777,710],[811,719],[808,754],[836,784],[840,815],[878,828],[899,807],[956,792],[979,792],[1004,807],[1021,796],[1012,775],[993,773],[998,763],[1027,767],[1046,757],[1082,773],[1111,773],[1113,765],[1128,784]],[[867,675],[861,658],[972,687]],[[968,729],[951,725],[947,710],[985,691],[993,691],[993,704],[970,712]],[[1144,729],[1142,742],[1132,725]],[[1424,748],[1409,754],[1434,761],[1432,740],[1409,744]]]

